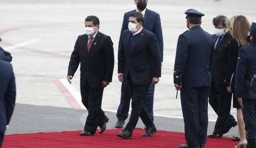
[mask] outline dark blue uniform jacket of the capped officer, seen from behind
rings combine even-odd
[[[178,38],[174,64],[174,84],[184,87],[211,85],[214,41],[199,25]]]

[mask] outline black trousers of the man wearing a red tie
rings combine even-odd
[[[98,126],[102,126],[107,118],[101,109],[103,90],[103,86],[92,88],[87,82],[80,87],[82,103],[88,110],[84,130],[91,134],[95,134]]]

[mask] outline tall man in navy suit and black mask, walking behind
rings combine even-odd
[[[163,34],[162,34],[160,15],[146,8],[148,0],[134,0],[134,2],[137,6],[136,10],[132,10],[124,14],[124,20],[122,24],[119,45],[118,45],[118,53],[120,52],[122,33],[124,32],[124,30],[128,29],[128,23],[129,23],[128,20],[129,20],[130,14],[132,14],[132,12],[141,12],[144,16],[144,23],[142,24],[142,26],[144,29],[156,35],[161,58],[162,58],[161,61],[163,61],[164,43],[163,43]],[[152,118],[152,120],[154,120],[154,114],[153,114],[154,91],[155,91],[155,85],[150,84],[148,89],[147,99],[145,100],[146,109],[148,110],[148,113]],[[116,128],[122,128],[124,125],[124,120],[126,120],[126,118],[128,117],[131,97],[132,96],[129,95],[128,84],[122,83],[120,105],[116,113],[116,116],[118,118],[118,122],[115,125]]]

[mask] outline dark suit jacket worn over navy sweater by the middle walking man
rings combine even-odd
[[[153,77],[161,77],[161,55],[156,35],[143,28],[133,53],[130,53],[130,36],[129,30],[122,34],[118,73],[124,73],[124,79],[130,73],[134,85],[149,84]]]

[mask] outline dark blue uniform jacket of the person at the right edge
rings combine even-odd
[[[236,97],[256,99],[256,83],[248,75],[256,74],[256,42],[243,46],[238,50],[236,64]],[[250,89],[249,89],[250,88]],[[249,90],[248,90],[249,89]],[[248,90],[248,91],[247,91]]]

